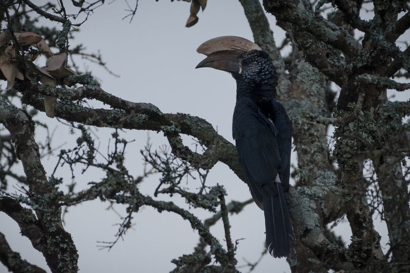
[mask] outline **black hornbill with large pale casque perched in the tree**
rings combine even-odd
[[[212,67],[236,80],[232,134],[245,181],[264,211],[266,244],[273,257],[286,257],[294,248],[294,233],[283,192],[289,191],[292,126],[276,101],[278,76],[272,59],[257,44],[236,36],[202,43],[207,55],[196,68]]]

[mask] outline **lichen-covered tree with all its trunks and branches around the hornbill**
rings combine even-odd
[[[48,33],[50,45],[60,52],[84,54],[81,48],[69,48],[71,22],[64,6],[55,11],[58,15],[54,15],[50,13],[51,6],[38,7],[28,0],[20,2],[21,6],[13,2],[0,5],[0,21],[7,21],[3,25],[12,37],[4,48],[17,41],[13,33],[22,29],[21,16],[33,10],[53,22],[63,23],[61,31]],[[410,114],[410,104],[389,102],[386,97],[388,88],[404,92],[410,88],[409,83],[396,81],[396,78],[410,78],[410,50],[402,51],[396,45],[397,39],[410,28],[408,3],[399,0],[374,0],[372,3],[264,0],[263,7],[258,0],[239,0],[239,3],[255,42],[270,54],[277,67],[278,100],[285,106],[293,124],[298,166],[294,174],[296,186],[286,195],[297,238],[296,252],[288,257],[292,272],[327,272],[330,269],[340,272],[409,271],[410,127],[402,122],[402,118]],[[94,9],[92,3],[85,4],[84,1],[72,1],[72,4],[80,9],[79,12]],[[191,7],[199,10],[204,5],[206,1],[193,0]],[[374,17],[370,20],[360,18],[364,9],[374,9]],[[405,14],[399,17],[402,11]],[[275,16],[277,25],[286,31],[286,39],[280,46],[275,42],[265,12]],[[44,31],[36,28],[35,21],[30,24],[34,30]],[[355,38],[358,30],[364,35],[362,39]],[[281,49],[286,44],[292,47],[289,56],[282,55]],[[23,51],[16,51],[16,54],[24,52],[28,56],[27,47],[18,46]],[[17,55],[16,65],[20,70],[26,70],[27,67],[18,61],[24,56]],[[91,58],[105,67],[100,56],[91,55]],[[340,88],[337,101],[333,83]],[[13,106],[10,98],[16,96],[20,96],[31,110]],[[68,156],[70,151],[61,151],[58,162],[70,168],[76,164],[86,168],[92,166],[107,174],[87,190],[64,195],[59,190],[61,181],[53,175],[46,176],[34,141],[32,120],[37,111],[45,111],[45,96],[57,98],[56,118],[72,123],[74,129],[81,131],[77,148],[83,147],[84,153],[77,152],[73,158]],[[81,103],[88,99],[103,102],[111,109],[96,109]],[[172,261],[176,265],[174,272],[237,271],[228,212],[240,213],[251,200],[225,204],[223,196],[226,193],[222,187],[206,188],[206,175],[217,162],[229,166],[240,179],[244,178],[234,145],[222,138],[206,120],[184,113],[163,113],[150,103],[115,97],[105,92],[91,75],[82,74],[59,78],[56,87],[27,78],[17,79],[13,88],[0,96],[0,123],[7,130],[0,135],[0,148],[6,158],[0,158],[0,189],[5,190],[0,191],[0,211],[18,223],[22,234],[46,257],[52,272],[78,271],[74,242],[60,223],[61,206],[73,206],[96,198],[126,204],[128,216],[120,225],[118,238],[127,231],[132,214],[141,206],[173,212],[189,221],[200,240],[192,254]],[[181,209],[173,202],[158,201],[141,194],[138,184],[149,173],[133,178],[124,167],[127,142],[119,139],[115,132],[115,153],[110,154],[108,163],[97,163],[92,137],[84,125],[163,132],[172,154],[160,155],[149,149],[144,153],[146,162],[162,174],[155,196],[158,193],[177,194],[190,206],[215,215],[201,221],[191,211]],[[329,145],[327,136],[331,133],[330,125],[336,128],[334,148]],[[180,134],[196,138],[206,150],[202,154],[192,151],[183,145]],[[120,145],[124,146],[122,152]],[[24,167],[24,175],[11,171],[17,159]],[[179,163],[175,165],[175,161]],[[365,177],[363,169],[368,169],[369,164],[372,175]],[[197,172],[203,183],[195,192],[179,186],[181,179],[192,172]],[[27,191],[21,195],[7,193],[8,177],[28,186]],[[23,203],[31,209],[23,207]],[[388,253],[382,252],[380,235],[373,225],[374,213],[380,213],[387,224]],[[353,234],[347,247],[327,227],[343,216]],[[226,248],[209,229],[221,218]],[[209,251],[207,246],[210,246]],[[13,252],[2,234],[0,260],[13,272],[44,272]],[[211,264],[213,261],[216,263]]]

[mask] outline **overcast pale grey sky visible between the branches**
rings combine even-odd
[[[36,4],[40,2],[44,1],[35,1]],[[67,6],[69,3],[67,1]],[[129,3],[132,6],[135,2],[130,0]],[[112,4],[99,7],[80,27],[80,32],[75,33],[75,39],[70,41],[72,47],[83,43],[89,52],[99,50],[109,69],[120,75],[119,78],[86,61],[77,60],[77,64],[90,67],[107,92],[133,102],[151,102],[163,112],[183,112],[199,116],[213,124],[224,138],[233,142],[231,126],[235,105],[235,81],[227,73],[212,69],[195,70],[194,67],[203,59],[202,55],[196,53],[196,48],[205,40],[222,35],[237,35],[253,40],[239,2],[209,1],[204,12],[198,13],[198,23],[191,28],[185,27],[190,3],[146,0],[139,1],[138,4],[131,24],[129,19],[121,20],[128,14],[125,11],[125,1],[116,0]],[[275,26],[273,16],[268,15],[268,18],[276,42],[279,43],[284,32]],[[3,88],[4,86],[2,83]],[[100,104],[93,105],[102,107]],[[70,135],[68,127],[55,119],[47,118],[44,113],[39,116],[50,128],[58,126],[55,146],[66,143],[64,147],[73,147],[76,135]],[[94,130],[103,151],[106,151],[105,147],[112,131],[101,128]],[[147,132],[127,130],[121,132],[121,136],[127,140],[136,140],[128,147],[127,167],[134,176],[140,175],[144,166],[139,150],[147,142]],[[44,142],[45,131],[37,128],[36,139]],[[154,148],[166,143],[161,133],[150,132],[150,139]],[[186,144],[194,142],[191,138],[185,140]],[[58,154],[58,151],[55,153]],[[296,164],[295,154],[293,162]],[[54,168],[55,157],[43,158],[43,164],[50,174]],[[66,184],[71,183],[68,170],[61,169],[57,176],[64,177]],[[86,188],[89,181],[98,181],[101,177],[103,174],[97,171],[77,175],[76,189]],[[158,176],[147,179],[141,185],[141,191],[152,194],[157,186],[157,179]],[[250,198],[248,187],[223,164],[219,163],[212,169],[208,181],[210,185],[224,185],[227,188],[228,201]],[[197,181],[190,183],[193,188],[198,185]],[[172,200],[186,206],[180,199]],[[120,222],[114,211],[106,210],[108,206],[109,203],[101,203],[99,200],[87,202],[70,208],[66,215],[65,229],[71,233],[76,243],[81,272],[168,272],[174,268],[171,259],[193,252],[198,235],[192,231],[189,222],[182,221],[171,213],[159,214],[150,208],[134,214],[133,229],[124,237],[124,241],[119,241],[110,252],[98,250],[97,241],[113,240],[117,231],[114,224]],[[115,206],[115,209],[125,215],[124,207]],[[209,217],[207,213],[196,211],[202,219]],[[14,251],[19,252],[29,262],[48,268],[43,256],[33,249],[28,239],[19,234],[18,226],[4,213],[0,213],[0,222],[0,232],[6,235]],[[386,234],[385,226],[378,224],[379,221],[376,222],[376,228]],[[255,204],[250,204],[239,215],[231,216],[230,223],[233,240],[244,238],[238,245],[238,264],[245,264],[242,258],[255,262],[264,249],[263,212]],[[221,223],[213,226],[211,231],[224,244]],[[335,231],[342,234],[348,242],[351,233],[345,223],[336,226]],[[385,242],[384,236],[382,244]],[[7,269],[0,265],[0,272],[6,271]],[[243,271],[248,269],[243,268]],[[254,272],[290,272],[290,268],[283,258],[265,256]]]

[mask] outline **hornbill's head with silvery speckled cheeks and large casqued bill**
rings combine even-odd
[[[277,81],[272,59],[248,39],[217,37],[202,43],[196,51],[207,58],[195,68],[212,67],[231,73],[236,80],[257,85]]]

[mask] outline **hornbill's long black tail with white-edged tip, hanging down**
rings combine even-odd
[[[263,197],[266,245],[273,257],[286,257],[294,248],[294,233],[281,183],[275,183],[278,194]]]

